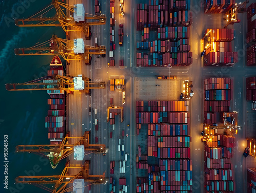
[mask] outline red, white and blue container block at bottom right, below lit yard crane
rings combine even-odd
[[[212,135],[204,145],[206,192],[234,191],[234,173],[231,158],[235,140],[229,135]]]

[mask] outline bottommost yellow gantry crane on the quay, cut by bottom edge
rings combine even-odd
[[[91,182],[92,184],[106,183],[105,172],[103,173],[103,175],[89,175],[89,163],[90,161],[88,160],[85,161],[82,167],[69,167],[67,163],[61,175],[18,176],[15,179],[15,182],[23,183],[23,184],[33,184],[53,193],[63,193],[67,191],[73,191],[73,182],[76,179],[83,179],[85,182]],[[77,175],[70,175],[71,169],[80,169],[80,171]],[[55,184],[55,185],[50,188],[50,187],[47,187],[46,184]]]

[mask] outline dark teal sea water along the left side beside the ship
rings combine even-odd
[[[40,160],[38,155],[14,153],[18,144],[49,144],[45,128],[49,109],[47,92],[5,89],[5,83],[26,82],[46,75],[52,56],[16,56],[13,49],[44,42],[53,34],[65,38],[65,33],[60,27],[17,27],[13,17],[29,17],[50,3],[51,0],[0,1],[1,193],[47,192],[33,185],[15,184],[14,179],[27,175],[60,175],[64,168],[65,160],[52,169],[48,161]],[[4,188],[4,135],[8,135],[8,189]]]

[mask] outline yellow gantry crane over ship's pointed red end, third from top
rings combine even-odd
[[[80,80],[79,80],[80,78]],[[51,82],[46,80],[57,80]],[[79,84],[79,85],[78,85]],[[92,87],[91,87],[92,85]],[[77,88],[78,87],[78,88]],[[24,83],[7,83],[6,90],[8,91],[38,91],[38,90],[64,90],[67,94],[72,94],[75,90],[90,94],[91,89],[104,89],[105,82],[91,82],[88,77],[79,75],[60,76],[54,74],[52,76],[44,76],[35,80]]]

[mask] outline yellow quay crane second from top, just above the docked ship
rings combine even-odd
[[[84,54],[75,54],[73,45],[74,41],[53,35],[50,40],[30,48],[17,48],[14,50],[16,55],[61,55],[68,63],[70,63],[70,60],[84,60],[86,64],[90,64],[91,54],[106,54],[105,46],[95,47],[88,45],[84,45]]]

